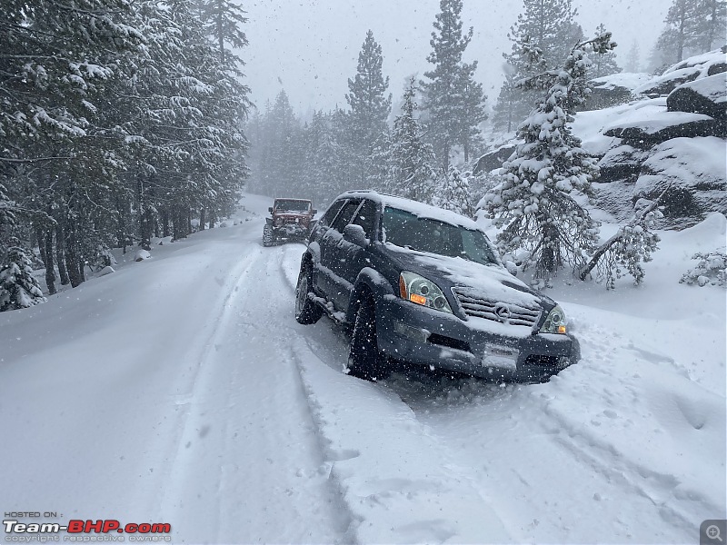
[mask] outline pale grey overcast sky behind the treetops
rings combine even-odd
[[[669,0],[573,0],[586,35],[603,23],[613,33],[622,61],[634,40],[645,62],[662,31]],[[244,0],[250,42],[242,56],[252,100],[265,101],[284,89],[299,114],[347,107],[347,80],[353,78],[368,29],[383,49],[383,73],[390,77],[393,102],[407,76],[430,68],[426,56],[439,0]],[[510,27],[522,0],[464,0],[463,22],[474,27],[466,61],[477,59],[476,78],[492,104],[503,81],[503,52],[511,51]]]

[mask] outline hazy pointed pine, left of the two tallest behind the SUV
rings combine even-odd
[[[392,107],[392,95],[386,94],[389,78],[383,77],[381,45],[376,43],[373,32],[366,33],[354,79],[348,80],[346,101],[351,106],[348,116],[347,141],[354,155],[350,177],[357,187],[383,186],[383,179],[373,153],[380,153],[388,131],[386,119]]]

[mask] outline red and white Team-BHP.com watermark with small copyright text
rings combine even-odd
[[[3,530],[8,543],[172,541],[172,525],[168,522],[70,519],[52,510],[5,511]]]

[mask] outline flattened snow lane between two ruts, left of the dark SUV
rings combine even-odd
[[[198,344],[162,512],[187,542],[336,542],[345,515],[321,471],[300,377],[278,348],[287,332],[276,326],[292,318],[270,289],[278,265],[257,237],[241,250],[250,255]]]

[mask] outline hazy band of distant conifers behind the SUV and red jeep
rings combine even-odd
[[[394,116],[383,53],[368,31],[346,108],[301,120],[282,91],[251,115],[250,188],[257,193],[308,196],[325,205],[352,188],[373,188],[472,213],[467,175],[450,164],[454,150],[467,163],[482,149],[485,114],[477,63],[463,62],[473,29],[463,30],[462,0],[441,0],[434,21],[432,69],[411,77]]]

